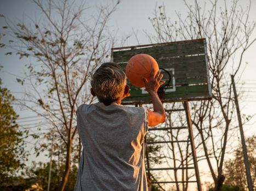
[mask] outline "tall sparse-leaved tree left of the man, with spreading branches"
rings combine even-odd
[[[77,138],[76,110],[81,103],[92,103],[87,82],[89,74],[105,59],[109,59],[114,43],[106,30],[107,21],[117,3],[99,7],[90,15],[84,4],[75,1],[33,0],[41,17],[30,25],[20,22],[10,25],[16,40],[9,46],[20,56],[30,57],[28,73],[18,79],[26,86],[19,104],[43,116],[51,126],[44,134],[38,154],[54,144],[58,157],[65,164],[59,190],[64,190],[71,168],[77,163],[81,146]],[[7,52],[12,55],[12,52]],[[53,127],[53,128],[52,128]],[[76,139],[75,139],[76,138]],[[79,149],[78,149],[79,148]]]

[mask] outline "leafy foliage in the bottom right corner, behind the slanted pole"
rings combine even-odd
[[[256,156],[255,156],[255,148],[256,148],[256,136],[251,136],[247,138],[247,154],[250,168],[251,168],[251,176],[253,181],[253,187],[256,189]],[[242,146],[235,150],[235,158],[229,159],[225,162],[224,175],[226,177],[225,183],[236,185],[243,190],[248,189],[247,180],[246,180],[246,170],[244,166],[243,160],[243,152]]]

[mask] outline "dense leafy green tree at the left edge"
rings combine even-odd
[[[24,167],[27,158],[24,134],[15,122],[18,118],[12,104],[15,98],[0,79],[0,184]]]

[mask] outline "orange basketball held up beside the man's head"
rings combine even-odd
[[[150,55],[141,53],[129,59],[126,65],[126,76],[132,85],[145,87],[145,83],[141,78],[145,77],[149,81],[153,68],[155,68],[155,76],[159,70],[156,60]]]

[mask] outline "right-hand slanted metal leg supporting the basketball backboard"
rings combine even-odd
[[[196,147],[195,147],[195,142],[194,142],[192,121],[191,121],[188,101],[184,102],[184,109],[186,111],[187,126],[189,127],[189,138],[190,138],[190,144],[191,144],[191,150],[192,150],[192,157],[193,157],[194,166],[195,166],[197,188],[198,188],[198,191],[201,191],[202,190],[201,181],[200,181],[200,175],[199,175],[199,171],[198,171],[198,164],[197,164],[197,158],[196,158]]]

